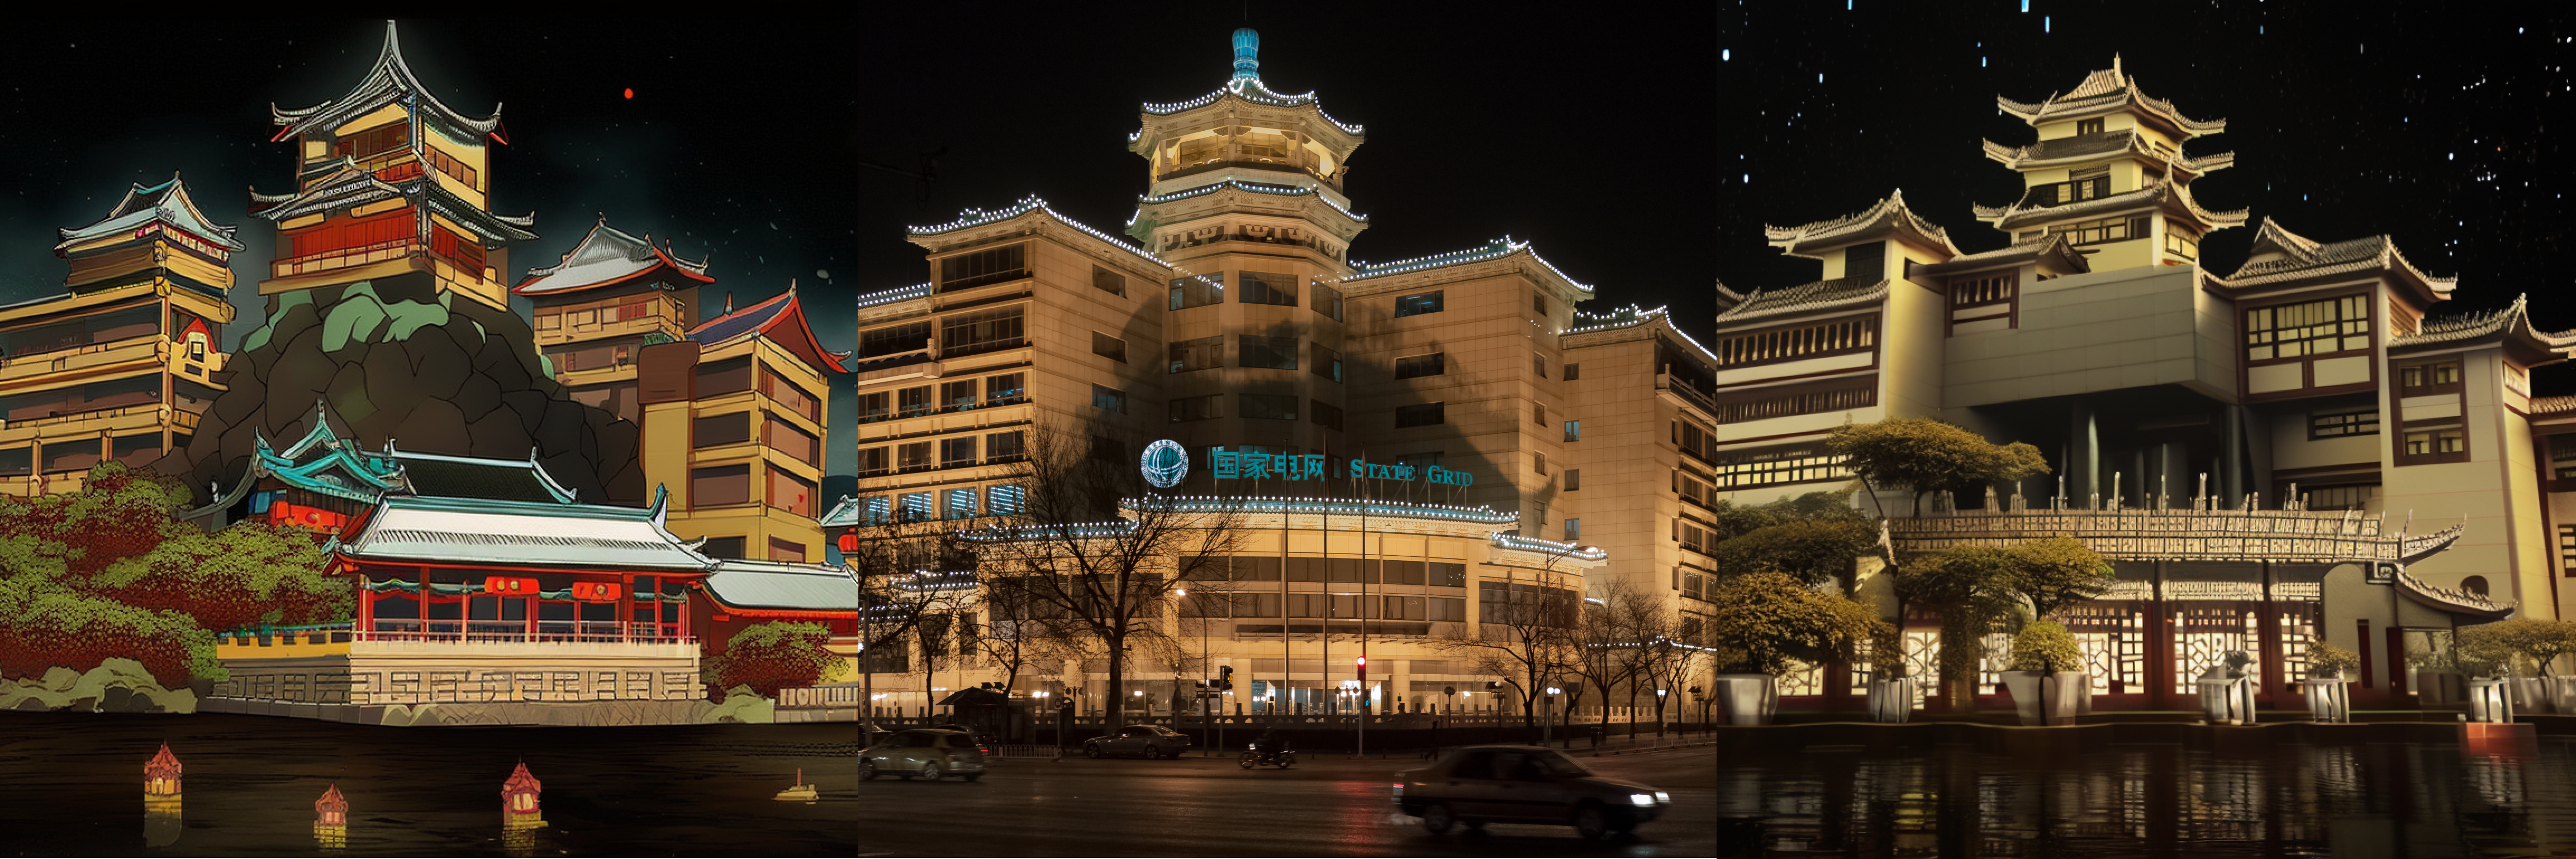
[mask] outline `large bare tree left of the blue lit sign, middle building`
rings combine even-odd
[[[1239,517],[1206,499],[1154,491],[1126,445],[1090,427],[1030,430],[1028,458],[1015,471],[1023,489],[1015,512],[976,535],[987,568],[1033,612],[1061,612],[1069,628],[1097,640],[1115,697],[1139,661],[1167,661],[1136,646],[1170,648],[1172,592],[1234,556]],[[1126,725],[1118,702],[1105,710],[1108,730]]]

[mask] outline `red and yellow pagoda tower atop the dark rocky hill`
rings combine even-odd
[[[250,193],[252,213],[278,224],[260,296],[425,273],[440,293],[510,309],[505,247],[536,234],[528,216],[492,213],[500,105],[471,118],[440,103],[386,21],[384,49],[348,95],[268,113],[270,141],[296,141],[296,190]]]

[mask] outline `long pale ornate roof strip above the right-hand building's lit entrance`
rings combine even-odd
[[[1989,499],[1991,502],[1991,499]],[[1888,545],[1901,553],[1937,553],[1953,545],[2017,545],[2076,538],[2105,561],[2215,561],[2215,563],[2414,563],[2468,530],[2468,522],[2429,532],[2385,532],[2385,517],[2326,509],[1963,509],[1953,514],[1886,520]],[[2020,507],[2020,499],[2014,499]]]

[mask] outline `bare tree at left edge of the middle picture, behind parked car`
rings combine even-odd
[[[925,620],[956,612],[974,592],[976,545],[930,509],[894,509],[886,499],[842,499],[835,530],[848,532],[840,561],[858,579],[860,702],[873,715],[876,674],[909,674],[907,643]],[[925,664],[927,666],[927,664]],[[873,718],[866,720],[868,730]]]

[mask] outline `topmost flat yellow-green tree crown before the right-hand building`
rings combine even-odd
[[[1842,424],[1824,445],[1844,458],[1873,496],[1878,486],[1906,486],[1914,512],[1929,491],[2048,473],[2038,448],[1994,445],[1976,432],[1922,417]]]

